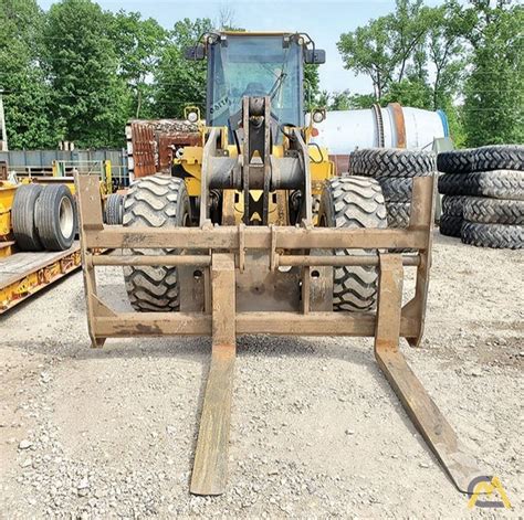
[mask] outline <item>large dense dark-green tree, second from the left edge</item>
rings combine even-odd
[[[54,3],[44,28],[44,63],[64,138],[80,147],[120,146],[130,95],[118,75],[112,14],[90,0]]]

